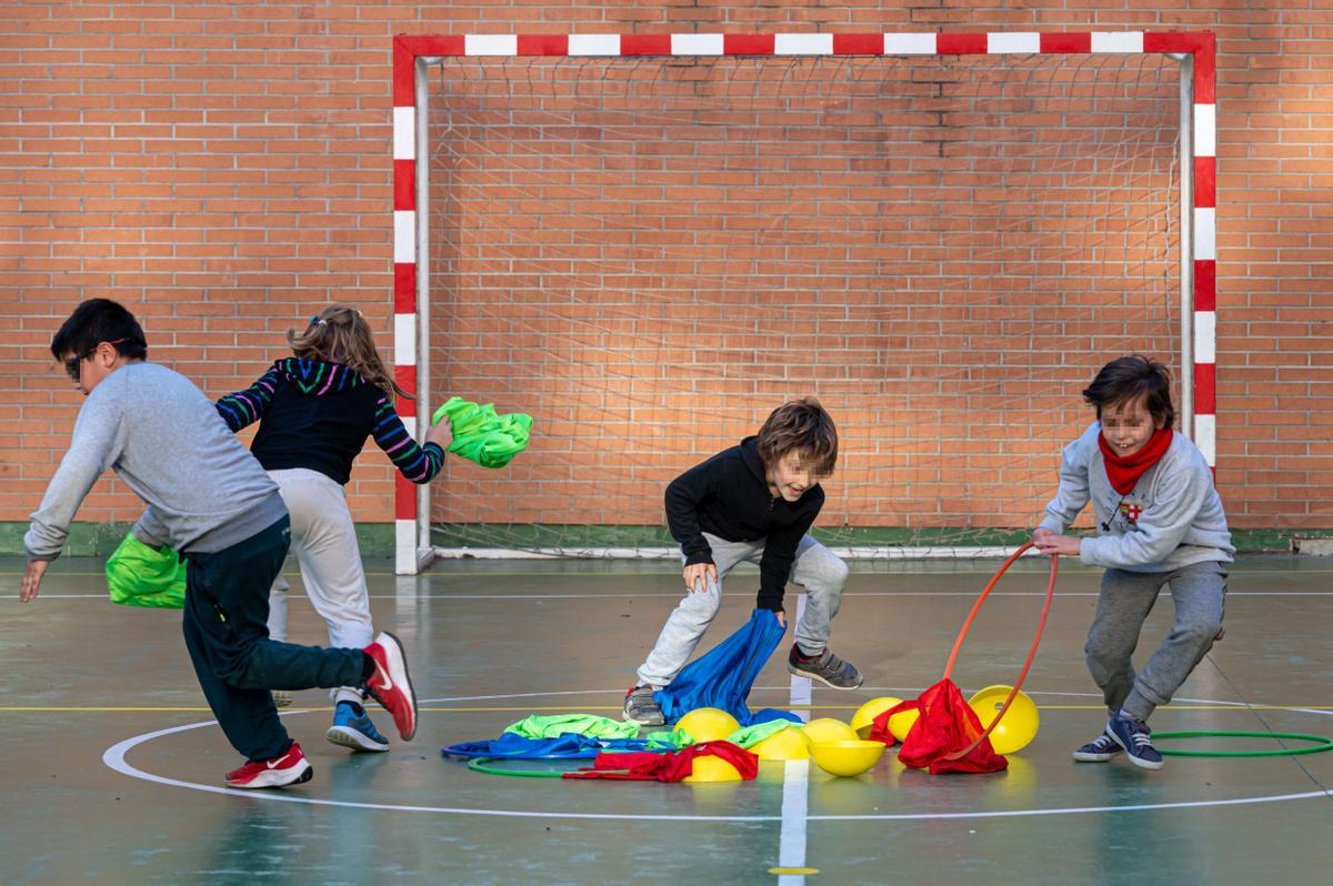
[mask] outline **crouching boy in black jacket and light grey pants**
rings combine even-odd
[[[680,542],[685,598],[625,695],[625,719],[664,722],[653,691],[670,683],[721,606],[722,580],[741,561],[757,562],[757,606],[785,626],[788,580],[808,598],[786,669],[833,689],[856,689],[861,674],[828,649],[829,621],[846,584],[846,564],[806,532],[824,506],[818,481],[837,462],[837,430],[813,397],[773,410],[757,437],[696,465],[666,488],[666,524]]]

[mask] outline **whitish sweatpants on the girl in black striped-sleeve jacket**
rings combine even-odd
[[[292,516],[292,553],[301,566],[301,582],[324,622],[329,646],[363,649],[371,645],[371,596],[365,586],[361,550],[356,544],[347,493],[317,470],[271,470]],[[287,640],[287,580],[277,576],[268,594],[268,636]],[[353,686],[335,689],[335,701],[361,701]]]

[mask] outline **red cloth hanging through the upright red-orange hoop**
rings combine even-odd
[[[898,749],[898,759],[910,769],[930,769],[932,775],[945,773],[997,773],[1009,767],[1009,761],[994,751],[990,738],[982,738],[981,743],[958,759],[946,759],[985,731],[981,719],[977,717],[962,693],[952,679],[941,679],[930,686],[920,698],[905,701],[901,705],[888,709],[874,718],[870,726],[870,741],[893,743],[889,733],[889,717],[904,710],[920,710],[921,715],[912,725],[912,730],[902,739]]]

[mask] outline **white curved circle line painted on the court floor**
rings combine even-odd
[[[587,693],[617,693],[619,690],[611,689],[597,689],[587,690]],[[587,694],[580,691],[552,691],[552,693],[516,693],[507,695],[457,695],[451,698],[427,698],[421,699],[423,705],[437,705],[448,703],[455,701],[485,701],[497,698],[536,698],[543,695],[577,695]],[[1100,698],[1100,694],[1094,693],[1061,693],[1070,695],[1085,695],[1089,698]],[[1186,701],[1186,699],[1181,699]],[[1238,702],[1217,702],[1212,699],[1190,698],[1188,701],[1209,703],[1209,705],[1238,705]],[[1262,703],[1262,702],[1261,702]],[[285,717],[295,717],[309,711],[289,711],[284,714]],[[1306,713],[1320,714],[1324,717],[1333,715],[1333,711],[1326,710],[1309,710]],[[143,745],[145,742],[153,741],[156,738],[163,738],[164,735],[172,735],[176,733],[184,733],[193,729],[204,729],[207,726],[215,725],[217,721],[208,719],[200,723],[187,723],[184,726],[172,726],[169,729],[159,729],[156,731],[144,733],[141,735],[133,735],[121,742],[117,742],[108,747],[103,755],[101,762],[109,769],[128,775],[131,778],[139,778],[141,781],[153,782],[157,785],[167,785],[169,787],[185,787],[189,790],[199,790],[208,794],[231,794],[233,797],[245,797],[249,801],[273,801],[280,803],[307,803],[311,806],[337,806],[343,809],[375,809],[384,811],[400,811],[400,813],[436,813],[436,814],[451,814],[451,815],[496,815],[508,818],[577,818],[577,819],[635,819],[635,821],[716,821],[716,822],[770,822],[780,821],[780,815],[644,815],[632,813],[537,813],[521,809],[463,809],[456,806],[412,806],[412,805],[397,805],[397,803],[361,803],[341,799],[316,799],[312,797],[300,797],[295,794],[280,794],[271,791],[257,791],[257,790],[237,790],[233,787],[217,787],[215,785],[200,785],[197,782],[180,781],[177,778],[165,778],[163,775],[155,775],[147,773],[136,766],[132,766],[127,759],[125,754],[131,750]],[[997,810],[985,813],[900,813],[900,814],[876,814],[876,815],[806,815],[805,821],[925,821],[925,819],[953,819],[953,818],[1014,818],[1024,815],[1076,815],[1088,813],[1118,813],[1118,811],[1148,811],[1148,810],[1162,810],[1162,809],[1202,809],[1206,806],[1246,806],[1254,803],[1276,803],[1293,799],[1313,799],[1321,798],[1326,799],[1333,797],[1333,791],[1326,790],[1313,790],[1300,794],[1269,794],[1264,797],[1241,797],[1234,799],[1205,799],[1205,801],[1181,801],[1174,803],[1133,803],[1126,806],[1066,806],[1057,809],[1013,809],[1013,810]]]

